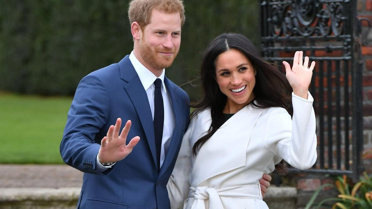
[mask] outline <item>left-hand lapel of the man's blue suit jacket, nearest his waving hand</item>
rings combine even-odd
[[[119,68],[121,79],[128,82],[124,89],[128,93],[129,98],[137,111],[142,128],[146,135],[148,146],[150,147],[151,155],[153,156],[155,165],[157,165],[153,117],[146,91],[143,88],[141,80],[134,70],[131,61],[129,60],[128,55],[119,62]]]

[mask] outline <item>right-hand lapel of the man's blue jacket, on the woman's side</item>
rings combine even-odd
[[[177,114],[178,112],[180,112],[180,106],[177,100],[177,93],[175,89],[172,87],[172,85],[170,84],[167,77],[164,77],[164,83],[167,87],[167,90],[169,91],[170,99],[172,102],[172,110],[173,110],[175,124],[174,124],[173,134],[170,139],[171,141],[169,144],[167,154],[165,155],[163,165],[161,165],[161,168],[160,168],[159,177],[161,177],[161,175],[163,175],[164,172],[169,167],[171,161],[173,160],[174,155],[176,154],[177,147],[179,146],[181,142],[181,136],[180,136],[181,130],[179,127],[180,116],[179,114]]]

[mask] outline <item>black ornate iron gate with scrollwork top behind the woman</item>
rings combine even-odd
[[[301,172],[359,177],[362,151],[362,38],[355,0],[261,0],[263,57],[278,64],[304,51],[317,62],[310,91],[318,160]],[[289,167],[290,172],[299,170]]]

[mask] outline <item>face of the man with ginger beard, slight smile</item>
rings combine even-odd
[[[167,14],[154,9],[150,23],[142,28],[142,38],[139,42],[145,67],[154,70],[170,67],[178,54],[180,44],[180,14]]]

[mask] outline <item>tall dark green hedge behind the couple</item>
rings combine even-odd
[[[167,76],[198,76],[203,50],[223,32],[259,43],[257,0],[185,0],[182,43]],[[80,79],[133,48],[125,0],[0,0],[0,89],[73,95]],[[197,84],[197,82],[196,82]],[[198,88],[183,88],[192,99]]]

